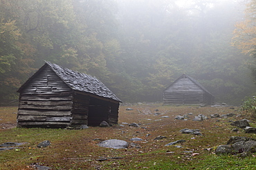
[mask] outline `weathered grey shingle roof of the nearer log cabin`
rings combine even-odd
[[[66,83],[66,85],[68,85],[68,87],[75,91],[86,92],[103,98],[110,98],[112,100],[122,102],[106,85],[93,76],[76,72],[48,61],[46,61],[45,65],[48,65],[51,70],[53,70],[53,72],[55,72],[55,74],[59,76],[62,81]],[[33,76],[31,78],[33,78]],[[28,79],[26,83],[28,83],[29,80],[30,79]],[[26,86],[26,83],[22,85],[21,88]],[[18,92],[21,91],[21,88],[18,90]]]

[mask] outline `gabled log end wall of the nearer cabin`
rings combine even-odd
[[[71,125],[72,100],[71,88],[46,67],[20,93],[17,124],[33,127]]]

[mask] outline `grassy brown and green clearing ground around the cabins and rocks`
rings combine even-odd
[[[132,110],[127,110],[131,108]],[[0,169],[256,169],[254,154],[217,155],[219,145],[231,136],[256,138],[243,129],[232,131],[230,123],[250,115],[239,107],[170,106],[161,103],[123,105],[118,125],[89,127],[89,129],[17,128],[17,107],[0,107],[0,145],[4,142],[24,142],[15,149],[1,151]],[[159,113],[159,114],[156,114]],[[193,121],[199,114],[207,120]],[[210,118],[212,114],[235,114],[232,117]],[[188,115],[188,120],[176,116]],[[137,123],[141,128],[131,127]],[[253,120],[250,126],[256,127]],[[181,129],[199,129],[202,136],[181,134]],[[156,137],[162,136],[158,140]],[[142,138],[142,141],[131,141]],[[110,149],[99,147],[101,140],[118,139],[136,143],[138,147]],[[39,142],[50,140],[51,145],[38,148]],[[165,146],[176,140],[177,145]],[[177,147],[179,146],[179,147]],[[0,147],[1,149],[1,147]],[[44,166],[44,167],[43,167]]]

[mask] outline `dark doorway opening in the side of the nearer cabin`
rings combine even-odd
[[[98,126],[102,121],[109,122],[109,105],[104,100],[91,97],[88,112],[88,125]]]

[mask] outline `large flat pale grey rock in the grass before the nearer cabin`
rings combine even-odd
[[[128,142],[125,140],[110,139],[104,140],[98,144],[100,147],[107,147],[113,149],[126,149],[129,147]]]

